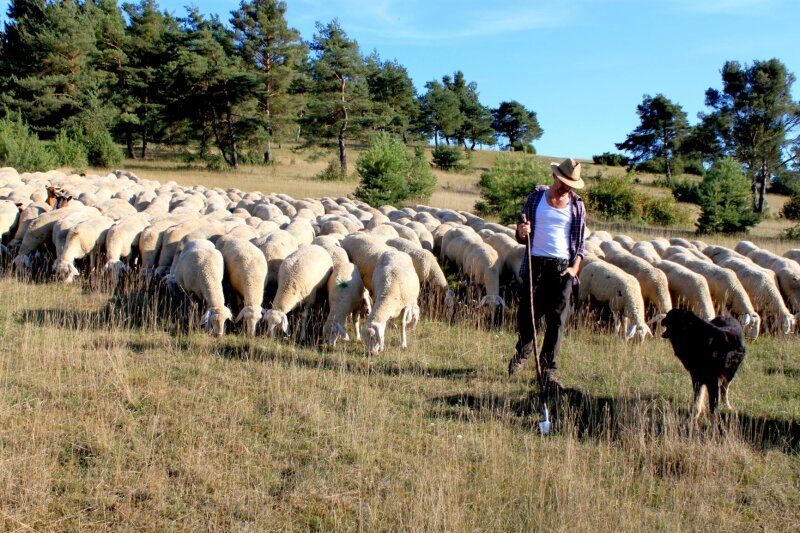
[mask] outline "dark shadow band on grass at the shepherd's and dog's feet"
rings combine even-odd
[[[444,407],[438,416],[464,419],[470,417],[506,417],[530,431],[538,431],[541,403],[536,393],[524,397],[462,394],[434,397],[431,403]],[[677,425],[690,435],[689,412],[675,408],[663,398],[610,398],[592,396],[577,389],[564,389],[548,399],[555,432],[568,431],[581,439],[619,440],[623,431],[637,425],[648,434],[665,434],[667,424]],[[676,424],[677,422],[677,424]],[[800,451],[800,421],[753,417],[741,413],[721,413],[719,429],[732,431],[759,450],[778,449],[785,453]],[[701,435],[714,434],[709,426]]]

